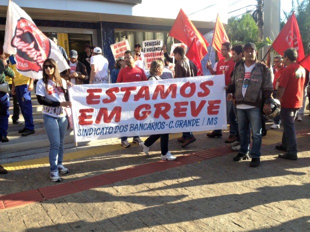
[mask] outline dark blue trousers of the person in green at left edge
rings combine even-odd
[[[0,91],[0,136],[7,135],[9,99],[5,92]]]

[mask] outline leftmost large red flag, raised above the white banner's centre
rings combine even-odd
[[[178,12],[178,15],[171,27],[169,36],[174,37],[181,42],[190,46],[191,41],[196,38],[197,49],[199,54],[199,59],[201,60],[207,53],[206,47],[209,43],[203,37],[203,35],[196,29],[196,27],[189,20],[187,15],[182,9]]]

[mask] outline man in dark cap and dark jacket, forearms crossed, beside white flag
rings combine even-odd
[[[85,65],[77,60],[77,51],[70,50],[69,57],[70,58],[67,60],[67,63],[70,69],[63,71],[60,76],[65,80],[70,81],[72,84],[83,84],[82,81],[88,79]]]

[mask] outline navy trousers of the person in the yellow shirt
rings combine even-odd
[[[21,110],[23,119],[25,120],[25,128],[33,131],[32,103],[28,85],[15,86],[17,101]]]

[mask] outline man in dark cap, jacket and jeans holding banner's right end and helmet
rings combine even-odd
[[[270,69],[256,59],[256,46],[246,43],[243,47],[244,62],[233,71],[231,83],[224,88],[228,93],[234,93],[237,108],[240,150],[233,161],[249,159],[248,126],[252,129],[252,148],[250,151],[250,167],[260,164],[261,147],[261,107],[263,112],[271,112],[270,104],[265,100],[272,98],[272,79]]]

